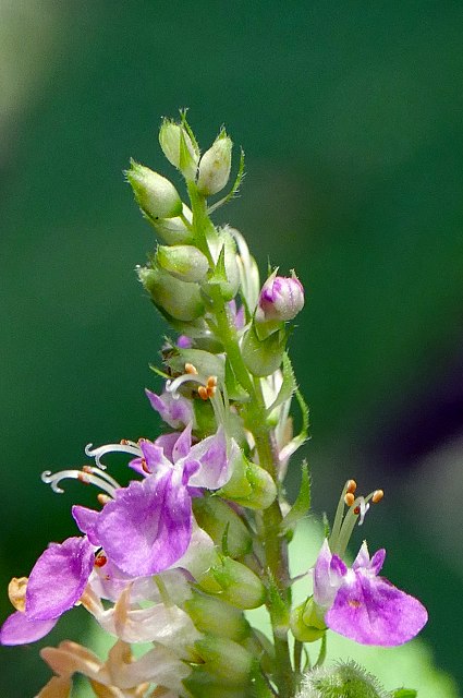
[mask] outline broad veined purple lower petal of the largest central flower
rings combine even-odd
[[[173,565],[186,551],[191,530],[191,496],[182,472],[172,467],[118,490],[97,526],[108,557],[133,577],[156,575]]]

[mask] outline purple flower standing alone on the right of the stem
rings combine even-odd
[[[348,568],[325,540],[314,569],[314,601],[331,630],[361,645],[394,647],[426,624],[427,611],[417,599],[378,577],[385,557],[379,550],[370,558],[364,542]]]

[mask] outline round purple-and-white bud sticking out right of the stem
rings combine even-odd
[[[291,277],[273,272],[264,284],[256,310],[256,322],[287,322],[304,308],[304,288],[292,272]]]

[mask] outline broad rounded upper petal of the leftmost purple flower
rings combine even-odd
[[[71,609],[82,597],[93,567],[93,545],[87,538],[50,543],[27,582],[27,617],[47,621]]]

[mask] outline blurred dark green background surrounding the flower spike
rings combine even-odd
[[[416,651],[463,683],[462,39],[461,1],[0,0],[2,589],[92,501],[40,472],[156,434],[143,388],[166,328],[133,272],[154,238],[122,170],[178,182],[157,129],[187,106],[204,148],[226,123],[246,152],[217,221],[307,290],[291,349],[315,512],[348,477],[385,489],[355,542],[387,547],[387,577],[429,610]],[[35,695],[37,648],[85,622],[0,648],[0,695]]]

